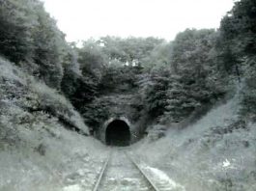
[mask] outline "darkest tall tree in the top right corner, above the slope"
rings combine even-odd
[[[216,48],[220,64],[229,74],[239,78],[244,57],[256,50],[256,2],[242,0],[222,20]]]

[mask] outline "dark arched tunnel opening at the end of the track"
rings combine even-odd
[[[128,123],[122,120],[115,120],[109,123],[105,131],[105,141],[108,146],[128,146],[130,143]]]

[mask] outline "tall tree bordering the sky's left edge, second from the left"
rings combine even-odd
[[[60,89],[63,77],[63,57],[67,48],[64,34],[57,28],[55,20],[38,4],[37,21],[33,39],[35,44],[35,63],[39,66],[39,77],[50,87]]]

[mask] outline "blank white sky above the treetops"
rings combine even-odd
[[[90,37],[159,37],[173,40],[185,28],[218,28],[233,0],[42,0],[67,34]]]

